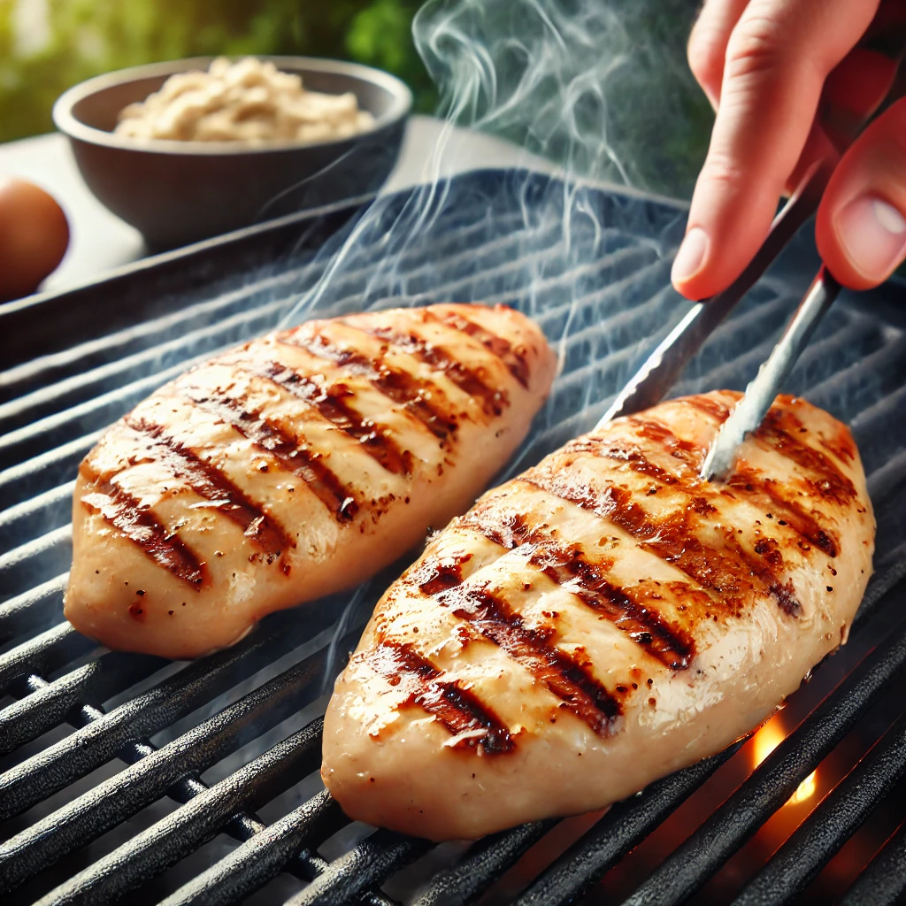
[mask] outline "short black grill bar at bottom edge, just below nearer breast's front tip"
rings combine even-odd
[[[319,874],[286,906],[348,906],[380,887],[400,869],[427,853],[433,843],[383,828],[366,837]]]

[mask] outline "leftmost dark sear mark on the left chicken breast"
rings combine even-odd
[[[200,591],[206,578],[204,564],[188,545],[172,535],[149,506],[142,505],[114,478],[98,475],[84,464],[81,471],[91,488],[82,494],[82,506],[100,514],[156,564]]]

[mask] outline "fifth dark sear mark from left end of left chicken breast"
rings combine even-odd
[[[346,326],[355,330],[352,324]],[[372,361],[357,350],[344,349],[323,336],[306,336],[304,333],[280,334],[279,342],[298,346],[311,355],[337,365],[346,366],[371,382],[388,399],[404,406],[410,415],[418,419],[438,439],[446,440],[456,434],[457,424],[450,410],[452,405],[439,387],[429,381],[422,381],[408,371],[394,368],[383,356]],[[439,398],[445,404],[438,405],[432,398]]]

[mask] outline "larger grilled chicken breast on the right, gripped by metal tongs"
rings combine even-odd
[[[781,397],[702,482],[737,399],[617,419],[431,541],[327,710],[347,814],[444,840],[601,808],[757,727],[845,641],[874,532],[853,439]]]

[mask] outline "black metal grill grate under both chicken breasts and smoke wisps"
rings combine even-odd
[[[349,215],[334,208],[292,218],[0,312],[2,335],[15,337],[0,375],[0,891],[11,902],[113,902],[140,888],[130,899],[226,903],[254,901],[265,885],[260,896],[269,899],[261,902],[276,901],[279,891],[296,904],[390,906],[395,897],[429,906],[476,901],[494,885],[492,901],[573,901],[745,747],[737,743],[652,784],[578,835],[569,822],[545,821],[465,850],[435,848],[349,825],[311,776],[320,760],[325,678],[335,675],[338,653],[354,644],[394,569],[352,596],[276,614],[229,651],[188,665],[99,650],[62,622],[75,467],[111,420],[191,361],[291,315],[400,298],[514,304],[559,343],[563,370],[512,472],[590,428],[685,311],[668,286],[683,211],[659,201],[485,171],[425,197],[416,190],[383,199],[354,227],[356,242],[342,255],[332,257],[352,226],[316,253]],[[712,336],[678,391],[743,387],[814,264],[814,250],[798,241]],[[901,676],[902,295],[899,284],[870,300],[843,294],[789,381],[789,390],[851,424],[877,508],[877,573],[846,650],[854,652],[852,670],[819,671],[814,685],[824,683],[824,700],[647,877],[634,879],[627,902],[679,903],[707,890]],[[737,883],[738,902],[807,894],[903,775],[904,734],[900,709],[778,852],[742,879],[747,886]],[[845,903],[901,895],[903,827]],[[538,856],[515,889],[501,892],[507,872],[525,869],[538,847],[567,833],[573,843],[565,852]],[[229,848],[226,836],[238,845]],[[222,845],[206,849],[210,841]],[[278,876],[292,878],[279,887]]]

